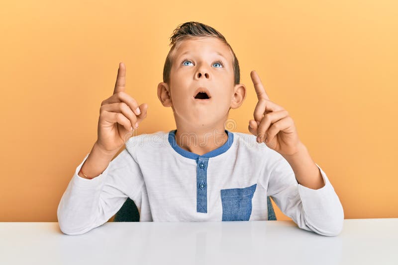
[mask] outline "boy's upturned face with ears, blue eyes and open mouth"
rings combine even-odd
[[[232,54],[216,38],[184,40],[174,51],[170,86],[158,85],[158,97],[172,107],[176,123],[195,129],[219,128],[228,118],[229,108],[238,108],[246,95],[243,84],[234,85]],[[209,99],[196,99],[205,88]]]

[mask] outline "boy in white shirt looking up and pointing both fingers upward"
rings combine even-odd
[[[248,127],[253,135],[230,132],[229,110],[246,97],[232,48],[199,22],[179,25],[170,45],[158,98],[173,109],[177,129],[130,137],[147,104],[124,92],[120,63],[114,93],[101,104],[98,139],[59,203],[61,231],[76,235],[96,228],[127,198],[140,221],[267,220],[271,196],[299,228],[338,235],[340,200],[257,73],[251,72],[258,96]]]

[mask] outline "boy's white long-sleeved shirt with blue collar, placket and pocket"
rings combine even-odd
[[[335,236],[343,226],[341,202],[326,174],[325,186],[298,184],[287,160],[256,136],[225,130],[228,140],[198,155],[181,148],[176,130],[131,137],[94,179],[75,173],[58,205],[61,231],[83,234],[105,223],[127,198],[140,221],[267,220],[267,196],[299,228]]]

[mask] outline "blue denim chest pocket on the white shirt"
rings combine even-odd
[[[221,190],[222,221],[248,221],[257,184],[246,188]]]

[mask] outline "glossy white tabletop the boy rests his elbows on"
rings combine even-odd
[[[0,222],[0,264],[398,264],[398,218],[345,219],[336,237],[293,221],[107,222],[65,235],[57,222]]]

